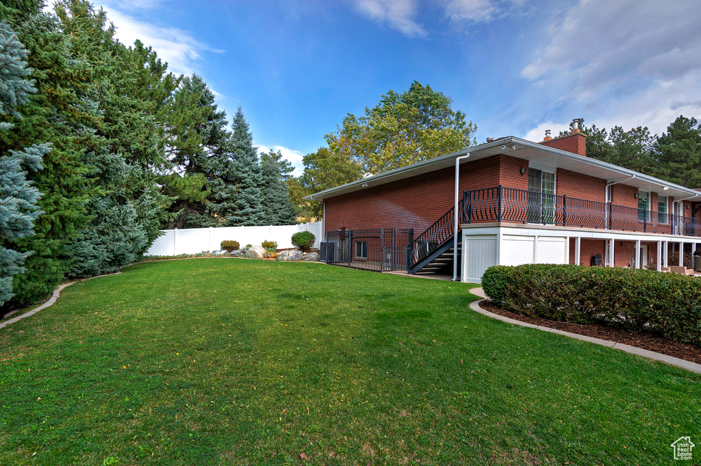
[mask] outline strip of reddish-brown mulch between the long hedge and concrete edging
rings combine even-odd
[[[611,329],[597,324],[580,325],[571,324],[570,322],[560,322],[559,320],[543,319],[540,317],[529,317],[505,310],[492,301],[483,301],[479,304],[479,307],[484,310],[489,310],[491,313],[503,315],[504,317],[509,317],[514,320],[520,320],[521,322],[542,325],[550,329],[569,331],[571,334],[601,338],[602,340],[660,352],[663,355],[678,357],[679,359],[701,364],[701,348],[684,343],[677,343],[676,341],[669,341],[667,338],[662,338],[661,336],[632,334],[625,330]]]

